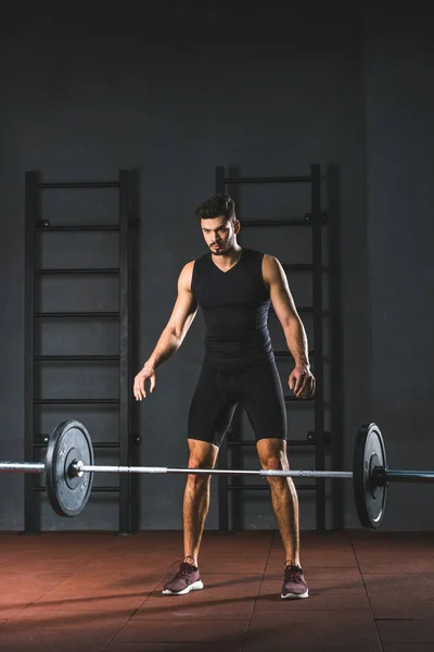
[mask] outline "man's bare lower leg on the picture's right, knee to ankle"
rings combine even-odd
[[[282,439],[259,439],[257,452],[263,468],[289,468],[286,442]],[[267,477],[271,504],[285,550],[286,563],[299,566],[298,498],[292,478]]]

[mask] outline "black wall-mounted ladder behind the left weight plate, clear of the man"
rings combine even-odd
[[[39,179],[37,172],[25,174],[25,437],[24,459],[34,461],[40,455],[47,446],[49,432],[36,432],[35,415],[36,406],[43,410],[47,405],[58,404],[61,409],[72,406],[72,411],[85,405],[113,405],[118,413],[118,438],[114,441],[94,442],[95,449],[114,449],[118,453],[118,464],[130,463],[130,424],[129,424],[129,233],[131,218],[129,215],[129,172],[120,170],[117,180],[112,181],[65,181],[47,183]],[[63,189],[116,189],[117,190],[117,223],[114,224],[63,224],[43,218],[40,214],[41,193]],[[61,268],[44,268],[39,266],[39,251],[37,242],[42,247],[46,234],[84,234],[97,231],[113,231],[118,237],[118,260],[116,265],[110,267],[77,266]],[[80,252],[77,260],[79,262]],[[60,278],[77,277],[115,277],[117,278],[117,309],[111,312],[100,310],[89,311],[41,311],[36,300],[39,291],[38,280],[46,276],[58,276]],[[103,324],[118,324],[118,346],[115,354],[82,354],[74,351],[74,354],[46,355],[40,350],[40,342],[35,338],[36,327],[47,322],[63,324],[65,321],[73,323],[91,323],[98,319]],[[74,338],[73,338],[74,339]],[[64,363],[110,363],[118,365],[118,393],[114,398],[89,398],[88,396],[76,396],[74,398],[47,398],[41,396],[39,387],[36,387],[36,365]],[[78,392],[81,388],[78,388]],[[37,391],[36,391],[37,390]],[[82,391],[82,390],[81,390]],[[86,393],[86,392],[85,392]],[[36,534],[41,529],[40,504],[37,494],[44,491],[44,487],[38,486],[35,476],[25,475],[24,489],[24,532]],[[92,492],[118,493],[118,523],[119,534],[128,534],[132,529],[131,524],[131,489],[128,474],[119,474],[119,485],[116,487],[93,487]]]

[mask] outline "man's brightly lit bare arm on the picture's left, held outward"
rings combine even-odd
[[[145,383],[150,381],[150,391],[155,387],[155,369],[168,360],[181,346],[197,313],[197,304],[191,291],[194,261],[187,263],[178,278],[178,297],[169,321],[164,328],[155,349],[143,368],[135,378],[133,393],[137,400],[146,397]]]

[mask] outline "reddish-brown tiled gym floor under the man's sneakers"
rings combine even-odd
[[[434,535],[302,532],[309,599],[280,599],[277,532],[205,532],[203,591],[163,595],[181,532],[0,534],[0,651],[432,652]]]

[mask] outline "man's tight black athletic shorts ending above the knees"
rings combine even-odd
[[[189,412],[188,437],[220,446],[237,405],[243,406],[256,440],[286,439],[286,409],[275,361],[243,372],[201,369]]]

